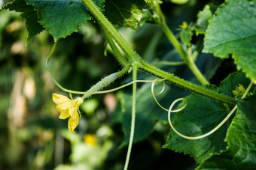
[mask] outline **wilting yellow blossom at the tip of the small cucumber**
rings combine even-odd
[[[75,127],[78,126],[79,122],[79,106],[84,102],[81,97],[75,100],[70,100],[68,97],[61,94],[53,94],[53,102],[56,103],[56,109],[60,112],[59,118],[69,118],[69,131],[74,133]]]

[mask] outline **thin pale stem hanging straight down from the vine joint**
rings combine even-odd
[[[137,80],[137,72],[138,72],[138,64],[133,64],[133,81]],[[133,108],[132,108],[132,124],[131,124],[131,131],[130,131],[130,141],[128,145],[128,151],[126,155],[124,170],[128,169],[130,154],[133,146],[133,136],[134,136],[135,118],[136,118],[136,91],[137,91],[137,83],[135,82],[133,83]]]

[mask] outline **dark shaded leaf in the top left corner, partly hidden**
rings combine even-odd
[[[38,15],[34,10],[32,5],[26,4],[25,0],[15,0],[9,4],[6,4],[1,9],[5,10],[15,10],[20,12],[20,16],[25,19],[26,29],[28,31],[28,36],[26,38],[26,45],[29,44],[32,37],[44,30],[42,25],[38,23]]]

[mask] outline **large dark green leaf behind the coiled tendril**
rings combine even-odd
[[[236,85],[239,84],[244,86],[248,85],[248,79],[246,80],[245,75],[242,73],[235,73],[224,79],[221,83],[221,88],[215,90],[221,91],[221,93],[223,93],[223,90],[231,91],[232,93]],[[190,96],[187,97],[187,103],[187,107],[172,118],[175,129],[186,136],[200,136],[208,133],[230,112],[229,106],[224,103],[210,100],[196,94],[190,94]],[[181,138],[171,130],[169,139],[163,148],[190,154],[198,163],[203,163],[203,161],[211,157],[212,154],[218,154],[226,150],[227,142],[224,142],[224,139],[229,123],[230,121],[226,122],[226,124],[211,136],[198,140]]]

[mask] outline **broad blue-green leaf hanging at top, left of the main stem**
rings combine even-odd
[[[38,22],[44,25],[55,41],[78,31],[80,25],[84,25],[87,20],[91,19],[90,13],[82,1],[27,0],[27,2],[35,5],[35,10],[40,16]],[[94,0],[93,2],[102,9],[103,0]]]

